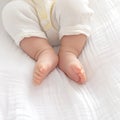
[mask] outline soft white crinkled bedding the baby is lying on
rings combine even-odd
[[[0,12],[6,1],[0,0]],[[35,86],[34,61],[16,47],[0,17],[0,120],[120,120],[120,0],[90,3],[93,31],[80,56],[85,85],[56,68]]]

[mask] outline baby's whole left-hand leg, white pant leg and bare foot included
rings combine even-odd
[[[5,6],[2,19],[15,43],[37,61],[33,80],[41,83],[56,67],[58,57],[45,39],[47,37],[39,25],[35,9],[24,0],[14,0]]]

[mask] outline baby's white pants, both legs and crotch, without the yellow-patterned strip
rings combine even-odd
[[[42,37],[57,45],[64,35],[90,35],[90,18],[93,11],[87,0],[56,0],[52,11],[53,27],[43,31],[36,11],[24,0],[13,0],[2,12],[3,25],[8,34],[19,45],[25,37]]]

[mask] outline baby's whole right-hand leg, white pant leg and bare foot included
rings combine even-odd
[[[53,13],[61,40],[59,67],[72,80],[83,83],[86,76],[77,57],[90,35],[93,11],[88,7],[88,0],[56,0]]]

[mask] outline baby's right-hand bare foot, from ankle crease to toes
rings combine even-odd
[[[70,79],[81,84],[86,81],[84,69],[76,55],[68,51],[62,51],[59,57],[59,68],[66,73]]]

